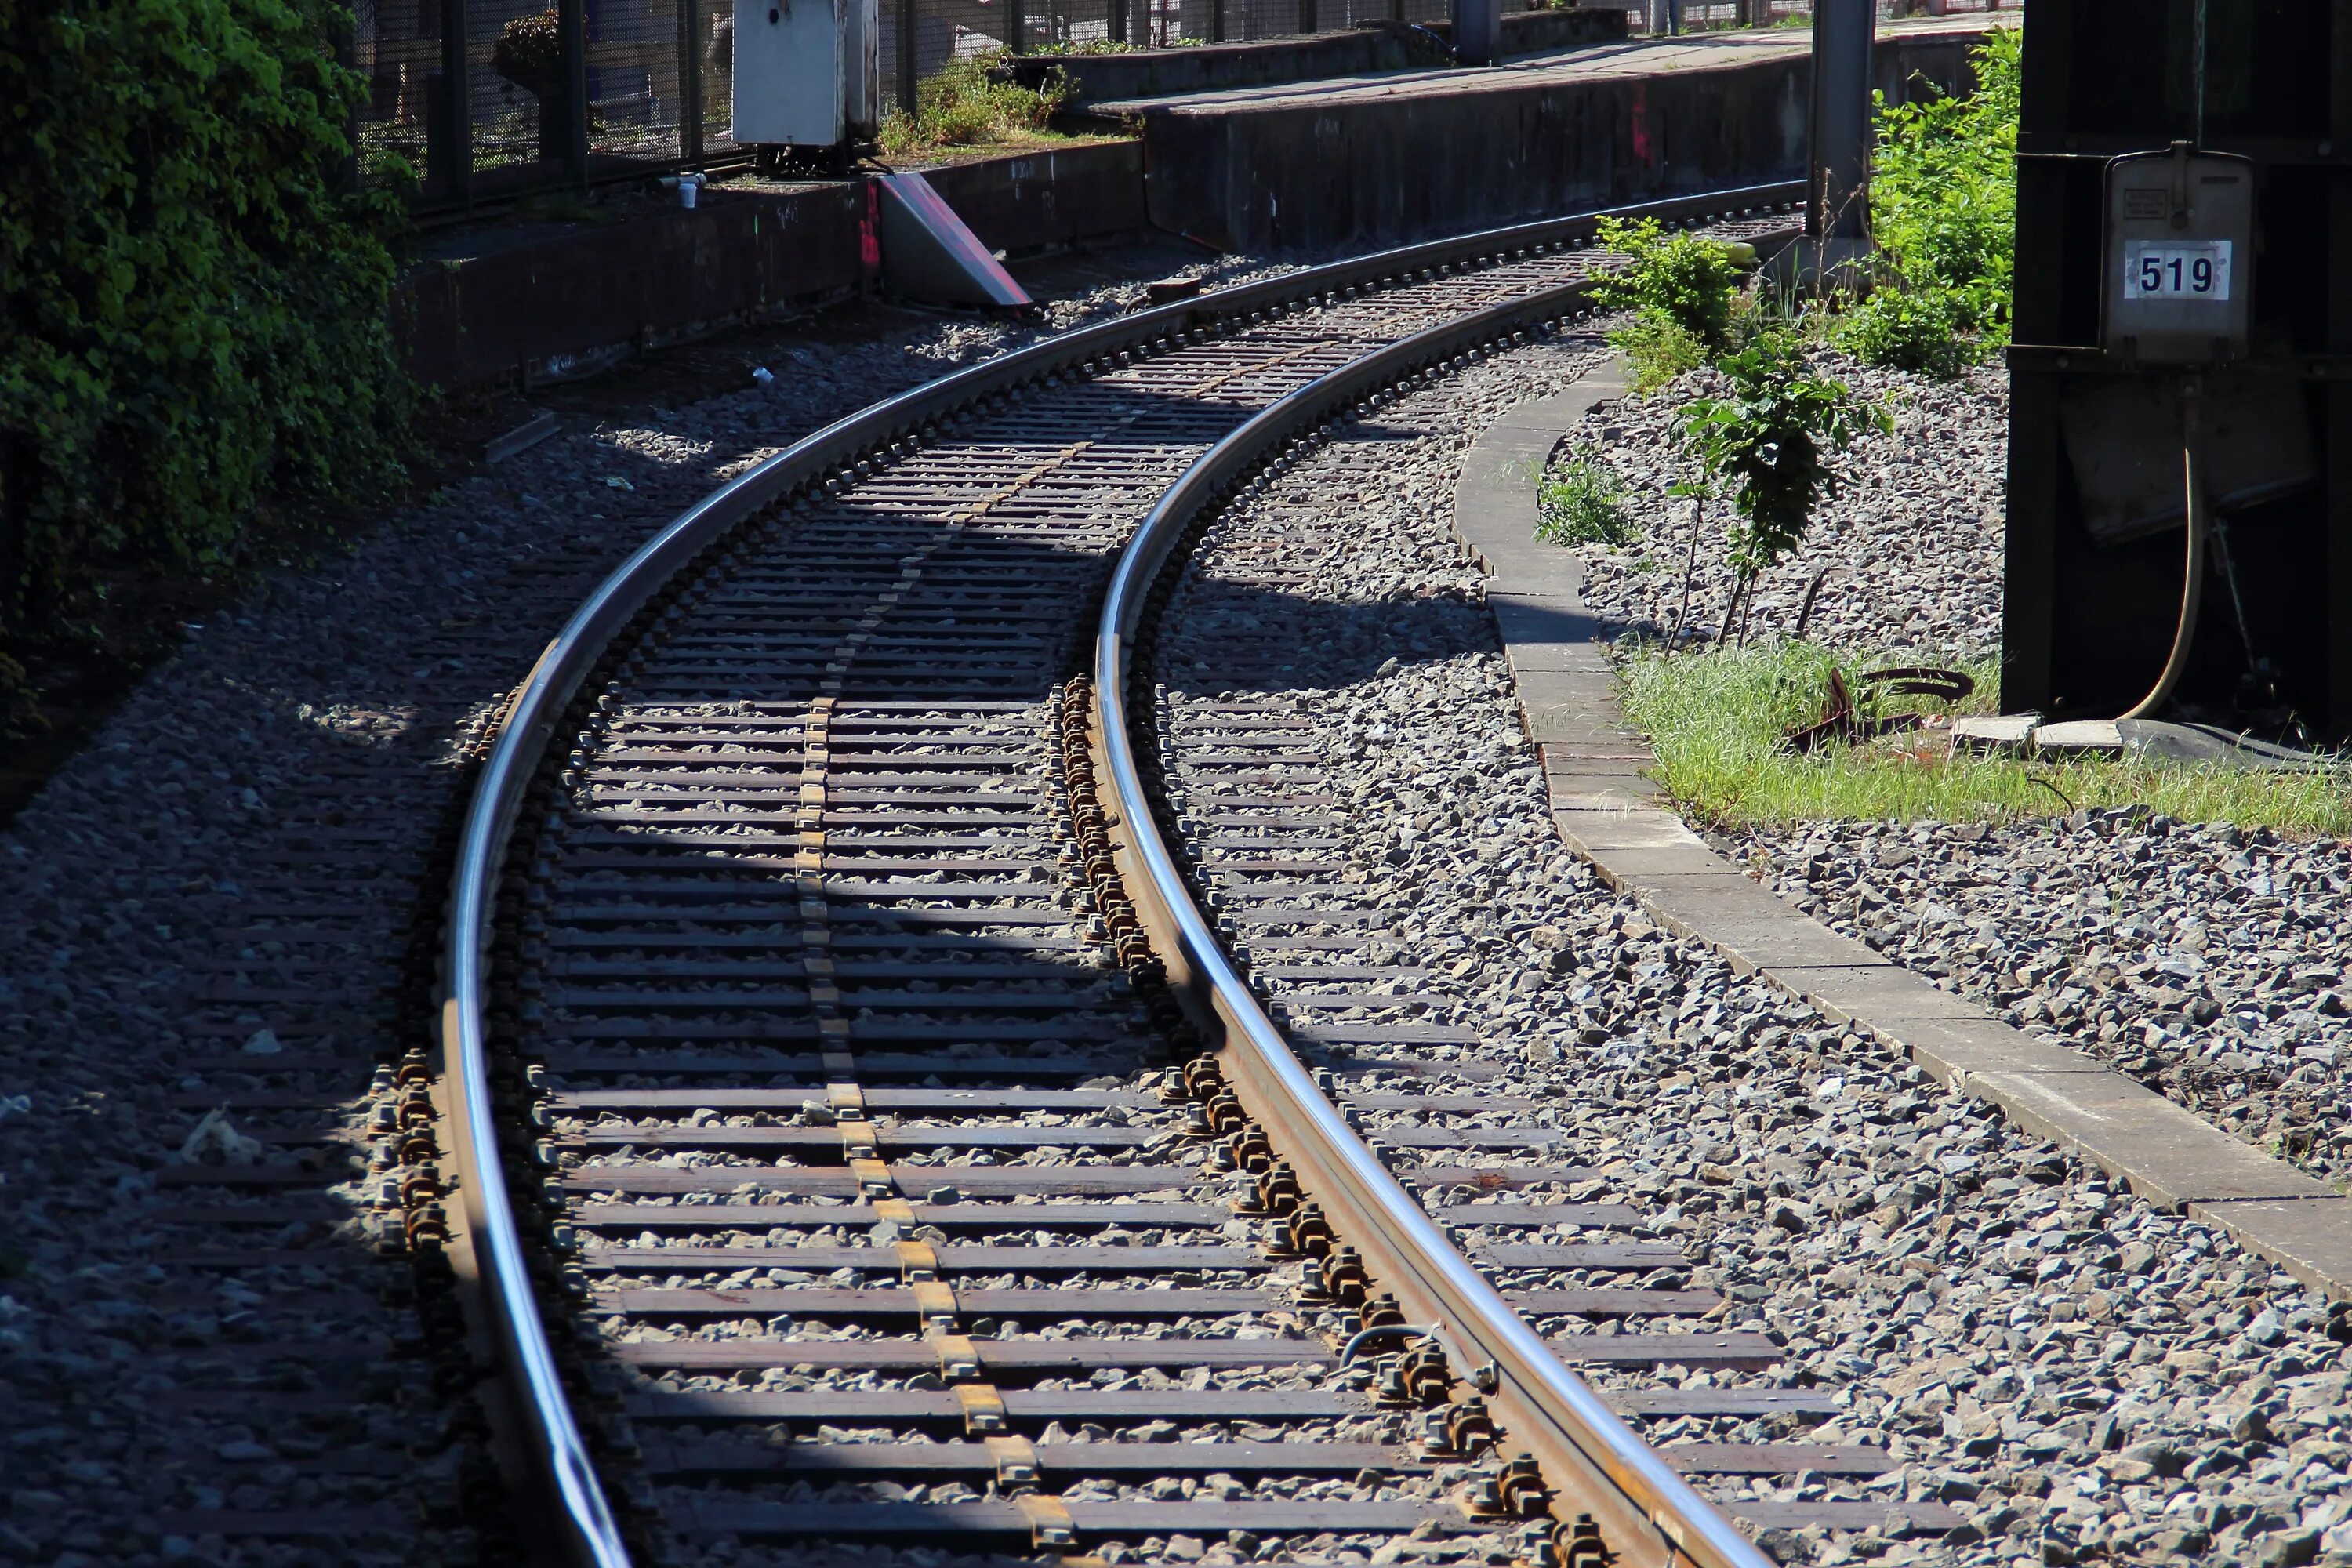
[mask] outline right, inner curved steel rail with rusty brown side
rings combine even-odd
[[[1566,1509],[1597,1514],[1606,1540],[1637,1563],[1698,1568],[1769,1568],[1738,1528],[1700,1497],[1665,1460],[1571,1373],[1468,1258],[1446,1239],[1388,1168],[1364,1147],[1338,1107],[1315,1086],[1282,1030],[1225,957],[1216,931],[1185,886],[1136,769],[1127,689],[1131,649],[1148,614],[1152,581],[1169,564],[1190,522],[1240,489],[1244,470],[1305,428],[1329,430],[1327,414],[1432,362],[1508,336],[1585,303],[1583,282],[1562,284],[1432,327],[1364,355],[1355,364],[1289,393],[1211,447],[1160,498],[1120,557],[1096,632],[1096,766],[1110,778],[1120,872],[1138,910],[1152,919],[1169,983],[1225,1039],[1228,1084],[1298,1166],[1301,1185],[1336,1220],[1392,1291],[1406,1319],[1428,1316],[1451,1331],[1454,1371],[1496,1406],[1508,1439],[1524,1443],[1555,1486],[1566,1481]],[[1658,1554],[1630,1552],[1656,1542]]]

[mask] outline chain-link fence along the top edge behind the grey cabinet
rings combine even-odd
[[[2020,5],[1879,0],[1889,16]],[[724,162],[739,153],[734,12],[736,0],[353,0],[353,63],[369,82],[360,162],[405,155],[426,212]],[[1249,42],[1446,14],[1449,0],[880,0],[882,101],[901,108],[910,82],[1000,49]],[[1628,5],[1635,31],[1809,14],[1811,0]]]

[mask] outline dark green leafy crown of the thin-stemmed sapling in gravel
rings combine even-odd
[[[1691,402],[1682,435],[1708,487],[1731,494],[1731,567],[1745,583],[1797,550],[1813,508],[1837,494],[1830,454],[1889,418],[1844,381],[1816,376],[1790,329],[1759,334],[1715,369],[1731,397]]]

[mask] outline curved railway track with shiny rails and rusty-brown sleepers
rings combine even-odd
[[[1792,195],[1653,212],[1762,230]],[[1275,705],[1152,691],[1216,505],[1581,315],[1588,235],[960,371],[710,496],[550,644],[485,738],[447,1150],[409,1150],[447,1166],[409,1229],[452,1234],[541,1540],[1752,1566],[1684,1474],[1886,1469],[1757,1436],[1828,1394],[1743,1382],[1773,1347],[1708,1331],[1679,1253],[1463,1041],[1317,1023],[1414,978],[1315,863],[1317,759]],[[1232,966],[1202,858],[1289,969]],[[1611,1408],[1571,1363],[1719,1375]],[[1661,1458],[1656,1418],[1740,1439]],[[1743,1512],[1837,1507],[1867,1505]]]

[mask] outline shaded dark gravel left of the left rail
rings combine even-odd
[[[1105,287],[1051,324],[1138,296]],[[1037,331],[908,315],[793,355],[771,390],[574,421],[191,630],[0,835],[0,1559],[468,1556],[461,1519],[419,1526],[416,1500],[454,1497],[480,1453],[428,1389],[369,1192],[374,1117],[395,1114],[376,1065],[421,1039],[397,992],[412,914],[440,900],[419,875],[452,738],[682,505]],[[280,1178],[252,1227],[174,1218],[230,1201],[216,1180]],[[273,1260],[207,1262],[230,1246]],[[266,1542],[209,1530],[214,1512],[350,1533]]]

